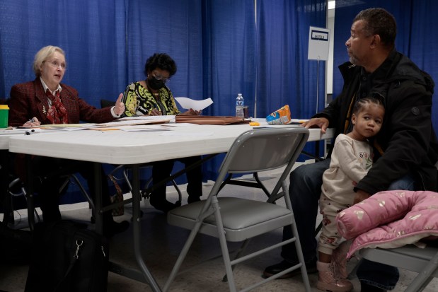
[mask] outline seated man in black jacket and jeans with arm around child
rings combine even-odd
[[[344,78],[342,93],[304,127],[335,128],[337,136],[351,131],[355,100],[379,95],[384,100],[385,119],[374,137],[374,165],[355,187],[355,202],[387,189],[437,191],[438,142],[432,127],[434,82],[424,71],[396,52],[396,21],[382,8],[359,12],[345,42],[350,62],[339,69]],[[330,158],[330,153],[329,156]],[[316,272],[314,228],[321,194],[322,175],[330,159],[302,165],[291,173],[289,194],[309,273]],[[290,238],[284,228],[284,238]],[[267,267],[272,276],[298,262],[294,245],[283,247],[284,261]],[[282,279],[299,273],[292,271]],[[384,264],[363,261],[357,276],[364,291],[386,291],[396,286],[398,270]],[[343,291],[340,287],[339,291]]]

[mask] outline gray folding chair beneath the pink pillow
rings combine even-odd
[[[373,262],[417,272],[418,275],[405,292],[420,292],[434,277],[438,277],[438,247],[405,245],[391,249],[364,248],[359,250],[359,254]]]

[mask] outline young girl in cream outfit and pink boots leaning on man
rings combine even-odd
[[[335,217],[353,204],[353,188],[371,168],[373,153],[368,139],[379,132],[384,112],[384,105],[378,98],[357,100],[351,118],[352,132],[340,134],[335,140],[330,168],[323,174],[319,200],[323,228],[318,245],[319,261],[316,263],[319,273],[316,285],[318,289],[344,292],[353,288],[346,279],[344,252],[341,248],[336,250],[342,237],[336,228]]]

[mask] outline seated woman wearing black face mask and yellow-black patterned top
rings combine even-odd
[[[146,60],[144,74],[146,80],[137,81],[127,86],[122,103],[125,112],[122,117],[139,115],[199,115],[200,112],[188,110],[181,113],[176,107],[171,90],[166,86],[168,80],[176,72],[175,61],[168,54],[156,53]],[[200,157],[180,158],[186,167],[195,163]],[[154,183],[165,180],[172,171],[174,160],[154,163],[152,180]],[[202,168],[196,167],[187,172],[189,194],[188,202],[196,202],[202,196]],[[167,212],[177,205],[166,200],[166,185],[161,185],[151,193],[151,205]]]

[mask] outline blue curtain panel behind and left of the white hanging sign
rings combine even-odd
[[[318,71],[318,62],[307,59],[309,26],[325,28],[326,1],[258,0],[257,4],[257,117],[289,105],[292,118],[309,118],[316,114]],[[325,62],[319,63],[318,109],[322,110]],[[314,153],[314,147],[309,143],[304,150]]]

